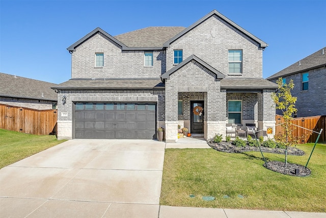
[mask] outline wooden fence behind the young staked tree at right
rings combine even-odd
[[[275,119],[276,119],[276,125],[284,123],[283,116],[281,116],[281,115],[276,115]],[[309,129],[309,130],[313,130],[315,132],[320,132],[320,129],[323,129],[318,142],[326,141],[326,132],[325,132],[326,115],[294,118],[292,120],[292,124]],[[300,127],[295,127],[295,126],[292,126],[292,127],[294,128],[294,131],[293,131],[294,136],[302,136],[303,134],[307,135],[305,140],[301,141],[301,143],[307,143],[307,142],[314,143],[318,137],[317,133],[313,133],[311,131],[305,130]],[[281,125],[275,127],[275,134],[281,133],[281,130],[282,130]]]

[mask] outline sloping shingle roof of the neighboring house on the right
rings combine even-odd
[[[322,52],[324,54],[322,54]],[[326,65],[326,47],[318,50],[317,52],[305,57],[304,59],[295,62],[294,64],[282,69],[274,75],[271,75],[267,80],[273,80],[298,72],[308,71],[310,69],[319,68]]]

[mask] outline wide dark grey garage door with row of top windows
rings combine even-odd
[[[75,103],[74,111],[75,138],[156,138],[155,104]]]

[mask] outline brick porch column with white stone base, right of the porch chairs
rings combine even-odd
[[[263,136],[264,139],[274,138],[275,135],[275,103],[271,98],[271,93],[274,90],[263,90],[262,93],[258,93],[258,137]],[[267,129],[271,128],[273,131],[267,132]]]

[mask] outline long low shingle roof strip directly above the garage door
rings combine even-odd
[[[71,79],[53,89],[78,89],[78,90],[97,90],[97,89],[164,89],[164,84],[160,78],[148,79]]]

